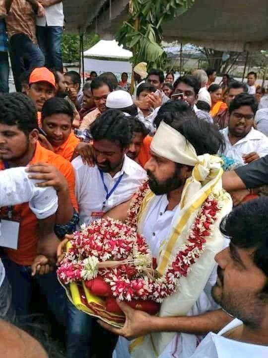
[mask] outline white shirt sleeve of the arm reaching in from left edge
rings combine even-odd
[[[29,202],[29,207],[38,219],[45,219],[58,209],[58,196],[51,187],[36,187],[42,180],[28,179],[25,167],[0,171],[0,207]],[[4,268],[0,260],[0,285],[4,279]]]

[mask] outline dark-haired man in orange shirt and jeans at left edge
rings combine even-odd
[[[36,186],[54,186],[58,194],[59,209],[56,224],[64,225],[73,218],[77,210],[74,195],[74,172],[71,164],[61,156],[43,148],[38,142],[36,109],[32,101],[22,93],[1,96],[0,101],[0,170],[30,166],[31,179],[43,179]],[[16,232],[17,249],[5,249],[2,262],[12,287],[12,302],[18,317],[30,313],[33,280],[40,292],[46,295],[48,308],[57,320],[65,324],[65,291],[59,284],[56,272],[32,276],[31,265],[37,254],[48,258],[56,256],[59,239],[46,235],[46,226],[38,221],[28,203],[14,205],[7,212],[13,222],[19,220]],[[4,210],[2,211],[4,214]],[[70,228],[75,228],[76,222]],[[57,225],[56,225],[57,226]],[[42,234],[43,233],[43,234]],[[64,234],[64,233],[63,233]],[[15,235],[15,234],[14,234]]]

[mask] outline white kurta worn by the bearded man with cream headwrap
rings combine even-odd
[[[155,196],[152,199],[150,209],[147,212],[144,220],[144,225],[141,229],[141,234],[146,238],[152,256],[158,257],[160,246],[162,242],[167,238],[170,228],[173,224],[173,220],[178,217],[180,205],[178,205],[172,211],[166,211],[168,204],[166,195]],[[228,243],[225,243],[227,246]],[[199,315],[206,311],[218,309],[219,306],[214,302],[211,297],[211,288],[215,284],[217,278],[216,265],[211,272],[209,279],[202,291],[199,299],[188,312],[188,316]],[[159,358],[189,358],[195,352],[197,345],[201,341],[202,337],[195,335],[188,335],[185,333],[178,333],[175,335],[170,344],[166,347]],[[130,342],[123,337],[119,337],[116,349],[113,354],[113,358],[129,358],[129,344]],[[146,355],[144,354],[144,357]]]

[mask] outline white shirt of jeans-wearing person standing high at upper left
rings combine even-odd
[[[36,17],[37,26],[64,26],[63,2],[44,7],[45,16]]]

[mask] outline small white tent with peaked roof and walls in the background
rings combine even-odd
[[[132,55],[131,51],[119,46],[116,40],[101,40],[89,50],[84,51],[85,71],[96,71],[98,74],[113,72],[118,77],[122,72],[131,75],[132,65],[129,59]]]

